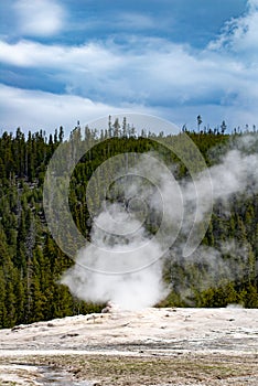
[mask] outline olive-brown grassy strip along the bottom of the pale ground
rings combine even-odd
[[[15,358],[15,362],[19,361],[60,368],[68,372],[74,378],[95,380],[96,385],[101,386],[178,385],[180,383],[189,385],[204,383],[215,386],[222,385],[222,382],[223,385],[234,384],[234,386],[240,386],[243,382],[237,378],[248,376],[251,379],[258,374],[257,357],[255,355],[196,355],[193,353],[170,357],[60,355]],[[13,358],[12,362],[14,362]],[[229,380],[230,383],[227,383]],[[233,380],[234,383],[232,383]]]

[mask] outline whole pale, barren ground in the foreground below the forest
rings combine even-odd
[[[258,385],[258,310],[112,311],[0,331],[0,385]]]

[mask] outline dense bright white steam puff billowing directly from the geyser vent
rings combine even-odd
[[[121,221],[120,230],[127,230],[128,216],[121,208],[112,205],[116,217]],[[103,212],[98,222],[104,227],[110,221],[109,213]],[[115,239],[97,226],[93,228],[92,243],[80,250],[75,266],[69,269],[62,282],[80,299],[93,302],[112,301],[123,309],[140,309],[160,301],[166,289],[162,282],[161,247],[144,235],[137,221],[130,221],[138,227],[128,240]],[[133,224],[132,224],[133,223]],[[114,229],[114,234],[117,229]]]

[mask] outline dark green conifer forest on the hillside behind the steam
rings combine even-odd
[[[96,168],[119,153],[159,151],[158,142],[151,140],[152,133],[139,130],[140,135],[137,135],[133,128],[125,125],[120,128],[116,122],[111,129],[111,136],[106,128],[98,132],[87,127],[71,133],[77,136],[78,141],[96,141],[90,152],[80,159],[71,181],[71,211],[86,237],[90,237],[90,217],[85,189]],[[208,165],[216,164],[222,153],[246,136],[212,130],[187,135]],[[257,133],[252,131],[248,136],[257,137]],[[164,140],[163,133],[160,137]],[[101,141],[105,138],[107,140]],[[101,140],[98,142],[98,139]],[[165,139],[176,140],[176,136]],[[73,265],[73,260],[57,247],[47,229],[43,184],[47,164],[61,142],[65,144],[62,127],[49,137],[43,131],[24,136],[18,129],[14,133],[3,132],[0,138],[0,328],[97,311],[101,307],[73,298],[58,282],[61,274]],[[163,156],[168,163],[178,165],[179,180],[187,176],[185,165],[175,156]],[[98,194],[96,191],[95,195]],[[211,287],[200,288],[200,276],[207,260],[184,265],[173,260],[164,268],[164,279],[172,282],[171,293],[160,305],[225,307],[238,303],[258,307],[258,194],[236,195],[226,212],[222,208],[223,203],[215,203],[203,246],[219,249],[228,265],[234,259],[234,267],[238,267],[241,275],[223,276],[216,286],[211,281]],[[154,232],[154,219],[150,221],[150,232]],[[238,246],[235,255],[230,255],[228,248],[222,248],[225,240],[234,240]]]

